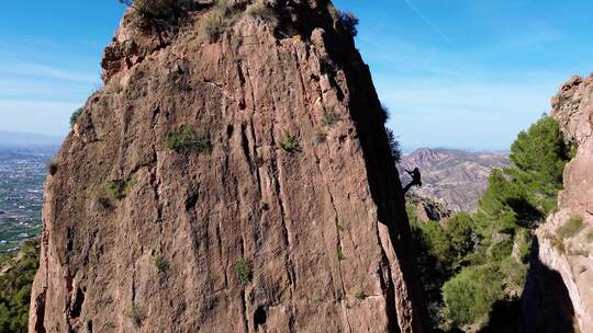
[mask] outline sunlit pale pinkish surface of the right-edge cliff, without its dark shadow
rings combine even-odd
[[[537,230],[539,262],[561,277],[574,312],[575,325],[580,332],[593,332],[593,77],[574,77],[567,82],[552,99],[551,116],[555,117],[564,137],[577,142],[577,157],[564,169],[564,190],[558,196],[558,210],[548,217]],[[558,228],[571,218],[582,218],[583,230],[559,240]],[[544,280],[537,269],[529,273],[528,280]],[[538,290],[538,289],[536,289]],[[540,292],[549,292],[548,289]],[[541,295],[527,294],[524,303],[537,305],[529,298],[545,299]],[[545,310],[545,309],[544,309]],[[541,310],[534,310],[537,312]],[[527,318],[527,321],[534,321]],[[527,332],[533,326],[527,326]],[[562,331],[564,332],[564,331]]]

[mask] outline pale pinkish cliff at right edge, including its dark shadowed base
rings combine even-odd
[[[571,332],[574,325],[572,330],[588,333],[593,332],[593,77],[567,82],[552,100],[551,116],[579,148],[564,169],[558,211],[536,232],[539,249],[526,287],[526,331]],[[564,330],[553,331],[546,323],[550,318],[561,319]]]

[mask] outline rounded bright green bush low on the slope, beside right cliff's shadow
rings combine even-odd
[[[491,265],[465,268],[443,286],[446,317],[459,325],[483,322],[502,297],[502,276]]]

